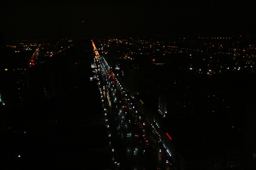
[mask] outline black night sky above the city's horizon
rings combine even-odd
[[[1,2],[6,40],[255,34],[255,1]]]

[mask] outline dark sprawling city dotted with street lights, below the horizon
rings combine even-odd
[[[0,156],[13,167],[32,158],[59,166],[63,151],[71,167],[253,167],[254,44],[255,36],[9,41]],[[14,136],[26,147],[8,142]]]

